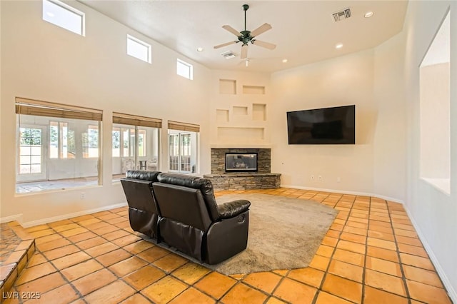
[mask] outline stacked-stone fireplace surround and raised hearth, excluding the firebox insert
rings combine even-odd
[[[226,173],[226,153],[257,153],[257,172]],[[279,188],[281,174],[271,173],[269,148],[212,148],[211,174],[209,178],[215,190],[245,190]]]

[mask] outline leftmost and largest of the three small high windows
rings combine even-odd
[[[43,0],[43,20],[84,36],[84,13],[58,0]]]

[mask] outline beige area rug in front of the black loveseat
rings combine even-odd
[[[225,275],[307,267],[338,213],[314,201],[261,193],[220,196],[217,202],[236,199],[251,202],[248,248],[205,265]]]

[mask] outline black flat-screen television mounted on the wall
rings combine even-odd
[[[287,112],[289,145],[355,144],[356,106]]]

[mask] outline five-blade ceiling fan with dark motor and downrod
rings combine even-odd
[[[231,44],[238,44],[238,42],[242,42],[243,45],[241,45],[241,56],[240,57],[241,57],[241,59],[246,59],[248,57],[248,43],[249,42],[251,42],[251,44],[253,44],[255,46],[262,46],[263,48],[270,49],[270,50],[273,50],[276,48],[275,44],[270,44],[269,42],[254,39],[258,35],[271,29],[270,24],[262,24],[261,26],[258,26],[258,28],[254,29],[253,31],[246,30],[246,11],[248,9],[249,9],[248,4],[243,4],[244,31],[236,31],[236,29],[233,29],[233,27],[231,27],[229,25],[222,26],[223,29],[226,29],[227,31],[231,32],[231,34],[236,35],[238,37],[238,40],[226,42],[225,44],[219,44],[218,46],[214,46],[214,49],[219,49],[223,46],[229,46]]]

